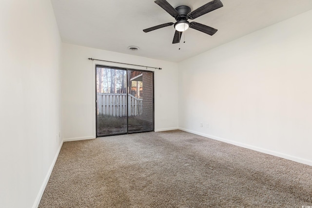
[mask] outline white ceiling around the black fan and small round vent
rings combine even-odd
[[[173,7],[188,5],[193,11],[210,0],[167,1]],[[142,31],[175,22],[154,0],[51,0],[62,42],[171,62],[180,62],[312,9],[312,0],[221,1],[223,7],[194,20],[218,29],[215,35],[188,29],[179,45],[172,44],[173,25]],[[129,50],[132,45],[140,49]]]

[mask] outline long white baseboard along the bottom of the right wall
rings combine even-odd
[[[288,154],[285,154],[285,153],[276,152],[276,151],[273,151],[273,150],[260,148],[260,147],[257,147],[257,146],[247,145],[247,144],[235,142],[235,141],[232,141],[232,140],[223,139],[223,138],[216,137],[216,136],[209,135],[209,134],[203,134],[203,133],[200,133],[200,132],[197,132],[197,131],[192,131],[192,130],[185,129],[185,128],[178,128],[178,129],[180,129],[182,131],[190,132],[190,133],[193,133],[193,134],[197,134],[197,135],[200,135],[200,136],[203,136],[203,137],[207,137],[207,138],[210,138],[210,139],[214,139],[214,140],[218,140],[218,141],[221,141],[221,142],[229,143],[229,144],[232,144],[232,145],[235,145],[235,146],[240,146],[240,147],[244,147],[244,148],[247,148],[247,149],[252,149],[252,150],[255,150],[255,151],[258,151],[258,152],[266,153],[266,154],[273,155],[273,156],[280,157],[280,158],[284,158],[284,159],[287,159],[287,160],[292,160],[292,161],[297,162],[297,163],[302,163],[302,164],[305,164],[305,165],[308,165],[308,166],[312,166],[312,161],[304,159],[304,158],[299,158],[299,157],[296,157],[296,156],[293,156],[293,155],[288,155]]]

